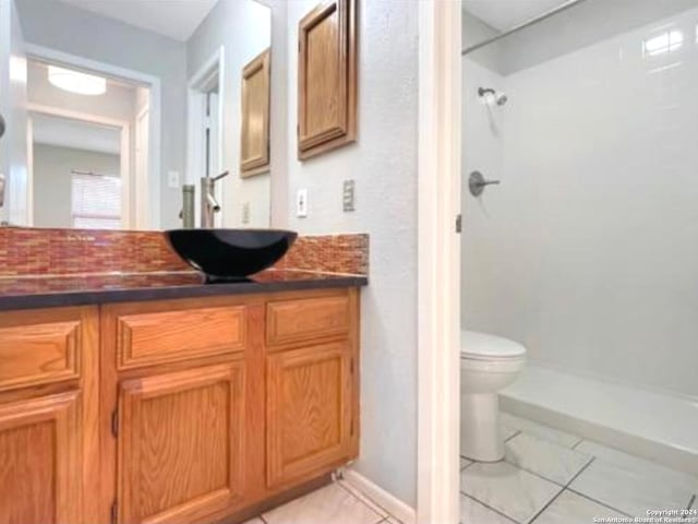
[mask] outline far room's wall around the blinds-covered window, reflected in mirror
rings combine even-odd
[[[34,144],[34,226],[73,227],[71,171],[119,176],[119,155]]]

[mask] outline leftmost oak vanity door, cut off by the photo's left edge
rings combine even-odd
[[[77,396],[0,406],[0,524],[81,522]]]

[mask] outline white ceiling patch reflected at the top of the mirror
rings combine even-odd
[[[186,41],[218,0],[60,0],[100,16]]]

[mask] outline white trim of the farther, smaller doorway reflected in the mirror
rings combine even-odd
[[[133,229],[134,221],[131,213],[132,198],[131,188],[133,180],[131,177],[131,124],[125,120],[117,120],[112,118],[103,117],[100,115],[91,115],[88,112],[72,111],[69,109],[61,109],[59,107],[44,106],[40,104],[27,104],[28,115],[49,115],[52,117],[68,118],[70,120],[76,120],[80,122],[95,123],[97,126],[108,126],[110,128],[117,128],[120,132],[120,147],[119,147],[119,176],[121,177],[121,227],[123,229]],[[32,130],[33,132],[33,130]],[[27,133],[28,135],[28,133]],[[28,136],[27,136],[28,141]],[[33,150],[33,147],[32,147]],[[34,158],[27,162],[27,178],[32,180],[31,187],[34,187]],[[34,200],[34,194],[29,195]],[[32,221],[34,215],[32,215]]]

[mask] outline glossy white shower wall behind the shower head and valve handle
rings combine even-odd
[[[694,9],[509,74],[464,59],[464,181],[502,180],[464,184],[466,329],[698,397],[697,27]]]

